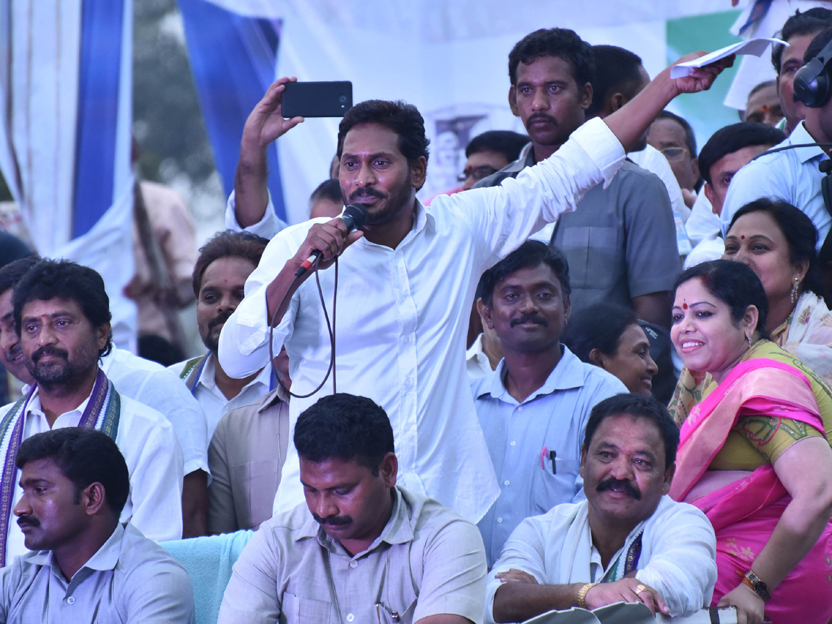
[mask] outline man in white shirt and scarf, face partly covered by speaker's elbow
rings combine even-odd
[[[169,370],[185,381],[200,402],[209,440],[220,418],[232,409],[259,404],[271,389],[270,366],[235,379],[225,373],[216,357],[220,330],[243,300],[245,280],[260,262],[268,242],[248,232],[220,232],[202,246],[194,265],[196,326],[208,352],[173,364]]]

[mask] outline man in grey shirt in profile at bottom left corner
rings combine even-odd
[[[0,623],[196,622],[185,568],[118,522],[130,478],[106,433],[37,433],[13,461],[23,488],[14,514],[36,552],[0,570]]]

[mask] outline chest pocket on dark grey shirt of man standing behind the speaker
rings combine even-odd
[[[608,289],[617,283],[618,228],[564,227],[556,245],[569,262],[572,288]]]

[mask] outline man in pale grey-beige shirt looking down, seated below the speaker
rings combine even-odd
[[[295,424],[306,503],[264,522],[234,566],[218,624],[482,622],[476,527],[396,486],[384,409],[334,394]]]

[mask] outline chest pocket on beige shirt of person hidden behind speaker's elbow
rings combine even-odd
[[[240,528],[256,528],[271,518],[280,470],[276,458],[229,468],[234,513]]]

